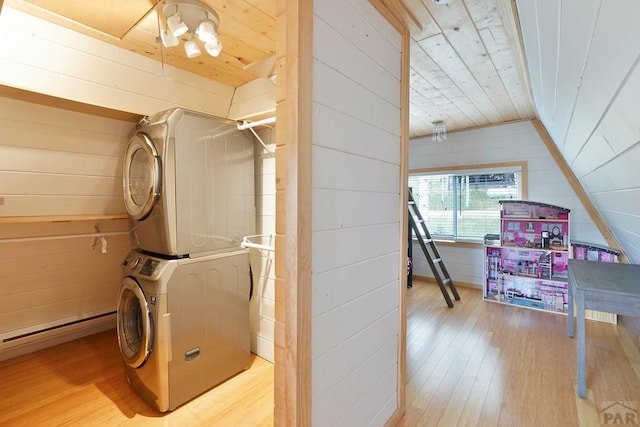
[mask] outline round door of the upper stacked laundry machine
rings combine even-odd
[[[124,156],[124,204],[133,219],[142,221],[153,210],[161,186],[161,164],[153,141],[144,132],[137,132]]]

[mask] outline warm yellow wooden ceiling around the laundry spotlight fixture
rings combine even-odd
[[[6,0],[22,10],[132,52],[238,87],[268,77],[276,49],[275,0],[202,0],[220,17],[222,52],[186,57],[182,45],[162,48],[157,41],[156,0]],[[158,5],[158,6],[157,6]]]

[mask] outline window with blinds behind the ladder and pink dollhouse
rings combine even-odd
[[[522,199],[523,166],[412,172],[409,188],[433,237],[482,240],[500,233],[499,200]]]

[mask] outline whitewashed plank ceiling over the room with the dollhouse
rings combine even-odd
[[[431,134],[434,121],[453,131],[535,117],[510,0],[403,3],[412,39],[410,137]]]

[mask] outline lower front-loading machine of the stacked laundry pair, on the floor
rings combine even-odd
[[[248,250],[123,262],[117,332],[129,384],[161,412],[249,367]]]

